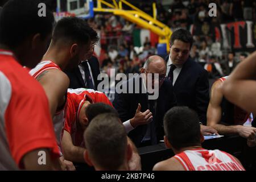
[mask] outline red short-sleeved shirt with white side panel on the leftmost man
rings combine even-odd
[[[59,157],[47,96],[13,56],[0,49],[0,170],[23,168],[22,157],[49,148]]]

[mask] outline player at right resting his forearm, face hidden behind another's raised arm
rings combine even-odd
[[[212,126],[221,135],[238,134],[246,139],[254,138],[256,128],[243,126],[249,114],[227,101],[222,94],[221,89],[226,80],[228,80],[228,76],[219,78],[211,88],[207,125]]]

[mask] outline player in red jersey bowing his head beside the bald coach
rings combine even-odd
[[[83,163],[85,151],[83,133],[90,121],[100,113],[114,113],[116,115],[118,113],[104,93],[93,89],[68,89],[67,98],[64,134],[61,140],[64,156],[72,162]],[[135,114],[134,118],[138,117],[138,114]],[[130,123],[130,121],[126,121],[126,123]],[[124,124],[124,126],[126,132],[129,131],[127,125]],[[134,170],[141,169],[137,148],[129,138],[127,139],[133,150],[129,166]]]

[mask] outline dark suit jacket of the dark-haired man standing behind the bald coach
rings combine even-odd
[[[166,57],[166,63],[169,55]],[[207,123],[209,104],[208,72],[190,58],[184,63],[174,84],[177,105],[188,106],[199,115],[200,122]]]

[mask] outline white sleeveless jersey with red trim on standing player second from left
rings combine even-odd
[[[31,69],[30,75],[34,78],[37,78],[40,74],[42,74],[44,71],[47,71],[49,69],[60,69],[60,67],[53,63],[52,61],[42,61],[38,65],[36,65],[35,68]],[[57,139],[57,143],[61,148],[61,135],[63,134],[63,128],[64,128],[64,122],[65,122],[65,107],[67,107],[67,102],[64,106],[64,108],[60,111],[57,111],[52,118],[53,120],[53,126],[55,130],[55,135]]]

